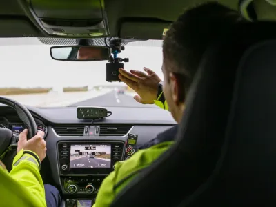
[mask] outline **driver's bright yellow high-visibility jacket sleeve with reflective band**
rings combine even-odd
[[[0,206],[46,206],[39,157],[21,150],[14,157],[10,173],[0,164]]]

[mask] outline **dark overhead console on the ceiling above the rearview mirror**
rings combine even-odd
[[[109,35],[103,0],[30,0],[30,13],[41,28],[59,37],[104,37]]]

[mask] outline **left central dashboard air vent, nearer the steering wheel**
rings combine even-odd
[[[84,125],[64,124],[53,126],[59,136],[83,136]]]

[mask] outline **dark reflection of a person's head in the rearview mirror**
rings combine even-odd
[[[77,60],[103,59],[101,48],[83,46],[77,52]]]

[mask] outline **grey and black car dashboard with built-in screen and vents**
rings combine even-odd
[[[45,132],[43,181],[59,188],[67,207],[89,206],[117,161],[129,159],[136,144],[177,124],[170,112],[161,108],[108,107],[110,117],[93,121],[77,119],[77,107],[27,108],[37,129]],[[14,133],[25,128],[15,110],[1,105],[0,127]]]

